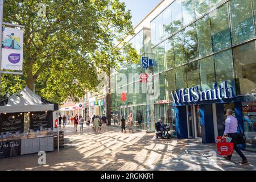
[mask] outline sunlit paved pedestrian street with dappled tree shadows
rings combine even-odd
[[[209,154],[214,144],[197,139],[155,139],[154,133],[121,133],[109,127],[94,134],[86,126],[83,132],[73,126],[64,129],[65,148],[47,152],[46,165],[38,164],[37,154],[0,159],[0,170],[255,170],[256,153],[245,151],[249,164],[239,164]],[[213,158],[213,160],[212,160]]]

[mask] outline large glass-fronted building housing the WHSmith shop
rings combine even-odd
[[[134,95],[127,89],[127,101],[122,102],[121,94],[115,94],[113,106],[127,107],[123,113],[133,111],[135,120],[135,110],[142,110],[148,131],[154,130],[154,122],[162,118],[171,124],[177,138],[202,138],[204,143],[214,142],[223,134],[225,110],[233,109],[247,135],[246,147],[255,148],[255,15],[256,0],[172,1],[151,20],[147,34],[142,30],[131,40],[137,51],[154,59],[155,64],[146,70],[141,68],[141,61],[136,65],[124,63],[118,71],[152,72],[152,77],[157,77],[152,85],[159,88],[154,103],[148,101],[147,94]],[[150,40],[147,45],[145,39]],[[172,98],[172,91],[179,93],[192,87],[199,92],[213,90],[214,83],[223,88],[224,81],[233,89],[234,97],[199,102],[175,102]],[[144,83],[140,84],[143,89]]]

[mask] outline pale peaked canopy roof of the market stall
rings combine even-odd
[[[58,109],[56,103],[45,100],[27,87],[6,100],[0,101],[0,113],[56,111]]]

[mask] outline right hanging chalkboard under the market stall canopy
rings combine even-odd
[[[39,130],[40,127],[52,127],[52,112],[35,112],[30,114],[30,130]]]

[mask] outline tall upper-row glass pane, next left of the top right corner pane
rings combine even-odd
[[[209,15],[212,23],[213,51],[216,52],[230,47],[231,35],[227,3],[212,11]]]

